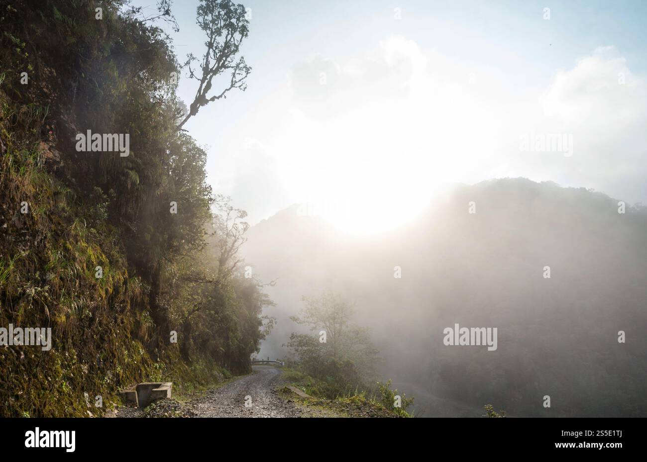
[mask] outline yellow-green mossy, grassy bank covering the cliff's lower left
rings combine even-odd
[[[0,326],[50,329],[51,341],[0,349],[0,415],[97,414],[119,386],[159,375],[144,348],[144,285],[100,191],[80,198],[56,178],[48,164],[65,152],[29,136],[41,119],[12,113],[3,92],[0,106]]]

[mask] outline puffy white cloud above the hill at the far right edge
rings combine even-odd
[[[631,202],[644,200],[647,178],[647,85],[615,47],[600,47],[557,72],[542,96],[546,131],[574,136],[558,182],[595,187]]]

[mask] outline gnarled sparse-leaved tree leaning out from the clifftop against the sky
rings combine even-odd
[[[243,56],[237,58],[243,39],[247,38],[249,21],[245,6],[236,5],[231,0],[200,0],[197,8],[197,24],[206,32],[206,52],[201,62],[202,72],[192,68],[193,61],[197,58],[193,54],[187,56],[184,66],[189,68],[189,76],[200,82],[195,99],[190,110],[177,126],[182,126],[192,116],[198,113],[201,107],[211,101],[226,98],[226,93],[232,89],[245,91],[245,79],[252,72],[252,68],[245,63]],[[212,90],[215,76],[228,75],[225,89],[208,96]]]

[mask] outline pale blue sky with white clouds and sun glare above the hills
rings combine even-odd
[[[172,8],[179,61],[204,52],[195,6]],[[647,203],[645,2],[245,6],[248,89],[185,128],[208,147],[214,191],[250,224],[305,203],[380,232],[450,184],[507,176]],[[195,83],[179,83],[187,104]]]

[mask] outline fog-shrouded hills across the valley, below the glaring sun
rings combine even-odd
[[[293,205],[245,244],[254,275],[276,280],[265,313],[277,324],[259,356],[287,357],[302,295],[331,289],[355,304],[380,378],[414,395],[418,415],[492,403],[511,416],[644,416],[646,225],[646,207],[525,178],[454,185],[373,236]],[[497,328],[496,350],[446,345],[455,324]]]

